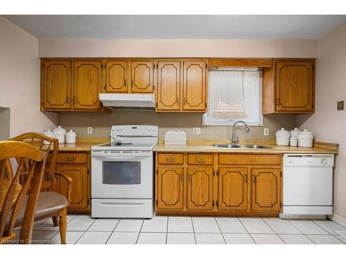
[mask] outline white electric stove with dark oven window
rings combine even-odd
[[[111,127],[111,142],[91,147],[91,217],[152,218],[158,126]]]

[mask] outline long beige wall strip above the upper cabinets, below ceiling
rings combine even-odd
[[[53,39],[39,57],[316,57],[316,40]]]

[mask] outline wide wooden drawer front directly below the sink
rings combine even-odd
[[[219,164],[251,164],[279,166],[281,164],[281,155],[219,154]]]

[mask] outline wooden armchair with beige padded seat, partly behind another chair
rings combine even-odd
[[[24,133],[23,135],[13,137],[11,140],[26,142],[36,146],[39,150],[45,151],[47,157],[51,159],[42,182],[42,193],[39,195],[35,221],[52,218],[53,225],[55,227],[59,225],[61,243],[66,244],[66,207],[71,202],[72,179],[64,173],[55,171],[55,162],[59,148],[58,140],[40,133]],[[44,145],[44,140],[49,142],[49,144]],[[66,198],[60,193],[55,192],[58,177],[61,177],[67,182]],[[17,225],[20,224],[18,223]]]

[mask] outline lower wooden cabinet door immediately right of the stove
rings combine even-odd
[[[183,209],[183,167],[160,166],[157,170],[157,208]]]

